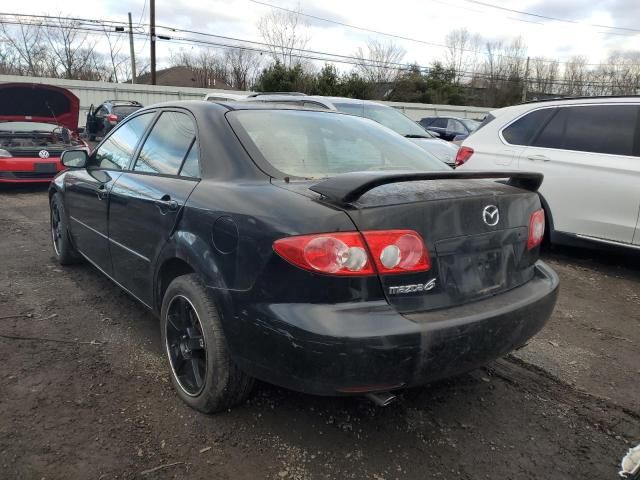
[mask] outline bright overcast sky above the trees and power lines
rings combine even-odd
[[[392,33],[425,42],[443,44],[446,34],[467,28],[484,38],[511,39],[521,35],[531,56],[567,60],[585,55],[591,63],[606,60],[612,50],[640,51],[640,0],[264,0],[285,8],[297,8],[317,17],[359,27]],[[499,5],[513,10],[575,23],[554,21],[491,8]],[[63,6],[64,5],[64,6]],[[60,9],[60,12],[58,11]],[[23,0],[7,3],[4,11],[12,13],[69,13],[84,18],[126,20],[131,11],[134,22],[148,21],[148,0]],[[256,22],[270,10],[249,0],[157,0],[159,25],[205,31],[237,38],[260,40]],[[143,15],[144,12],[144,15]],[[351,55],[368,38],[388,40],[375,35],[318,20],[309,22],[308,49]],[[611,29],[593,25],[619,27]],[[629,30],[624,30],[629,29]],[[634,31],[635,30],[635,31]],[[404,61],[430,64],[442,57],[444,50],[417,42],[393,39],[407,52]],[[158,55],[167,59],[169,50],[190,49],[172,42],[161,42]],[[136,50],[148,55],[148,44],[136,40]],[[160,58],[159,58],[160,60]],[[164,62],[163,62],[164,63]]]

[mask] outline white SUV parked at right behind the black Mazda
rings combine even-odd
[[[640,249],[640,97],[526,103],[491,112],[458,151],[464,170],[544,174],[552,243]]]

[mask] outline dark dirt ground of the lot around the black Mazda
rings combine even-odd
[[[0,206],[0,478],[613,479],[640,443],[637,256],[548,254],[538,337],[390,407],[258,384],[206,416],[174,394],[157,320],[54,262],[46,187]]]

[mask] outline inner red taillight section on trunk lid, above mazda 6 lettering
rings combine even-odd
[[[421,272],[431,268],[422,238],[413,230],[363,232],[378,272]]]

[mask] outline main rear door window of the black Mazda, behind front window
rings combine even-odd
[[[133,170],[178,175],[195,136],[195,125],[189,115],[162,112],[145,140]]]

